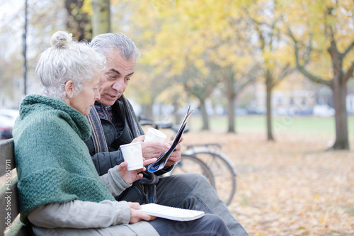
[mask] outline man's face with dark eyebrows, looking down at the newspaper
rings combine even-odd
[[[101,99],[98,101],[105,106],[112,106],[127,88],[134,73],[135,60],[124,60],[118,50],[105,52],[105,59],[107,67],[101,72],[98,85]]]

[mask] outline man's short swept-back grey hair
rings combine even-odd
[[[139,48],[123,33],[103,33],[97,35],[90,43],[91,47],[105,55],[105,52],[113,48],[120,52],[120,55],[127,61],[137,60],[141,56]]]

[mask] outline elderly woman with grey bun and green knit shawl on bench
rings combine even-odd
[[[64,31],[52,35],[51,45],[36,68],[45,95],[23,99],[13,129],[21,221],[35,235],[230,235],[216,215],[178,223],[115,201],[145,168],[127,171],[122,162],[100,177],[84,142],[105,58]]]

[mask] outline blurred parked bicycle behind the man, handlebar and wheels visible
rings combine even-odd
[[[140,125],[151,125],[156,129],[171,129],[174,133],[178,126],[170,121],[154,121],[139,117]],[[185,133],[188,128],[185,129]],[[237,169],[226,154],[219,151],[222,143],[184,145],[181,160],[166,175],[196,172],[204,175],[215,188],[226,205],[231,203],[236,191]],[[213,148],[215,147],[215,148]]]

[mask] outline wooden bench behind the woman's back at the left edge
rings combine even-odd
[[[13,139],[0,141],[0,235],[33,235],[30,227],[23,225],[19,218],[17,174]]]

